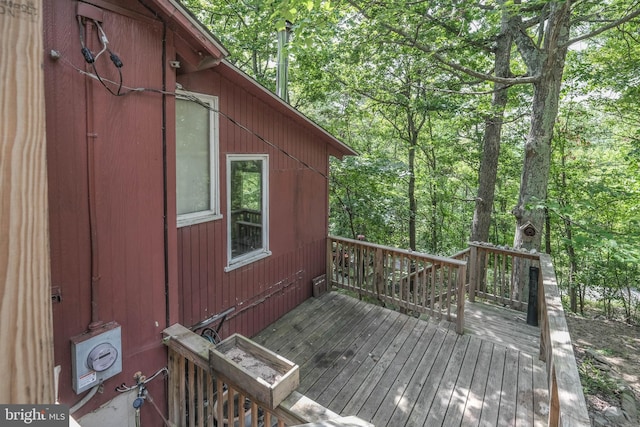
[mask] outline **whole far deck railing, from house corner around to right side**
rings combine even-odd
[[[540,359],[546,361],[549,376],[548,425],[590,425],[549,255],[474,242],[442,258],[334,236],[329,236],[327,252],[330,285],[448,319],[455,302],[459,333],[464,329],[459,310],[464,310],[465,291],[470,301],[478,298],[527,311],[530,268],[538,269]]]

